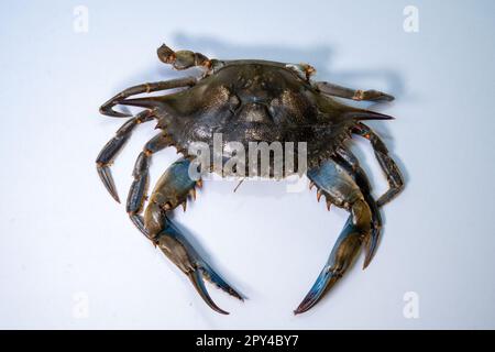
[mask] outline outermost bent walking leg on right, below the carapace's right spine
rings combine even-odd
[[[384,206],[397,196],[404,189],[404,178],[394,160],[388,155],[388,150],[380,136],[367,125],[362,122],[356,123],[353,133],[359,134],[369,140],[375,152],[375,157],[380,163],[388,182],[388,190],[378,198],[376,204],[378,207]]]

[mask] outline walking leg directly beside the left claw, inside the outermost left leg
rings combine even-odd
[[[129,190],[127,211],[131,221],[146,237],[148,234],[144,228],[144,219],[140,213],[147,196],[151,157],[154,153],[162,151],[170,144],[170,139],[165,133],[155,135],[144,145],[143,151],[135,161],[134,170],[132,172],[134,180]]]

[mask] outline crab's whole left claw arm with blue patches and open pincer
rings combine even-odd
[[[242,296],[211,268],[168,218],[173,209],[185,205],[189,195],[194,196],[195,186],[200,184],[189,177],[189,164],[188,160],[180,158],[162,175],[144,211],[144,227],[155,245],[189,277],[205,302],[215,311],[227,315],[211,299],[204,278],[235,298],[243,300]]]

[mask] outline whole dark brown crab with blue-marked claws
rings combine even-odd
[[[196,188],[202,185],[202,179],[195,179],[189,172],[196,157],[189,153],[190,145],[200,141],[212,146],[215,133],[222,134],[223,143],[237,141],[245,146],[251,142],[306,142],[305,172],[310,188],[317,188],[318,200],[324,196],[329,208],[333,205],[350,213],[323,270],[294,310],[296,315],[307,311],[323,297],[361,249],[365,252],[363,268],[367,267],[381,237],[380,208],[399,194],[404,179],[383,141],[363,121],[393,118],[344,105],[336,97],[356,101],[391,101],[394,97],[377,90],[355,90],[314,80],[316,70],[308,64],[210,59],[191,51],[175,52],[165,44],[158,47],[157,55],[175,69],[199,67],[202,74],[134,86],[103,103],[102,114],[129,119],[101,150],[96,160],[97,170],[107,190],[119,201],[110,165],[136,125],[156,121],[160,133],[144,145],[135,162],[127,212],[146,239],[187,275],[205,302],[217,312],[228,314],[211,299],[205,279],[244,299],[170,219],[178,206],[186,209],[188,198],[196,198]],[[169,91],[162,96],[132,97],[165,90]],[[131,116],[114,110],[116,106],[138,107],[142,111]],[[372,196],[366,174],[349,148],[348,141],[353,135],[371,142],[387,178],[388,189],[377,200]],[[147,197],[152,155],[168,146],[175,146],[183,156],[165,170]],[[206,172],[212,170],[216,172],[212,168]]]

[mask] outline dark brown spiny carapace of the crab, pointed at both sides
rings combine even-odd
[[[293,66],[266,61],[229,62],[185,90],[121,103],[153,109],[157,127],[186,155],[193,143],[212,148],[213,135],[220,133],[223,148],[230,142],[242,143],[246,151],[253,142],[293,142],[297,164],[298,143],[305,142],[308,168],[333,155],[356,121],[391,119],[340,103]],[[249,158],[245,165],[248,173]]]

